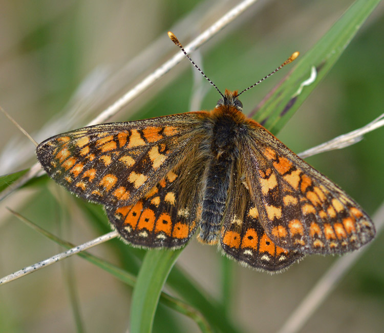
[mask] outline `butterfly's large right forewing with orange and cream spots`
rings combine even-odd
[[[257,123],[242,158],[260,223],[272,242],[302,253],[344,253],[368,243],[375,228],[364,210]]]

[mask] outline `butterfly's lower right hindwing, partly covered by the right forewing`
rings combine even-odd
[[[303,254],[277,246],[267,236],[260,223],[257,206],[242,181],[241,163],[232,172],[222,229],[221,247],[231,258],[254,268],[280,271],[287,268]]]

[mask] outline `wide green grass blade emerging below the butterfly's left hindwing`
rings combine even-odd
[[[178,250],[148,250],[137,277],[131,305],[131,333],[150,333],[161,289],[179,257]]]

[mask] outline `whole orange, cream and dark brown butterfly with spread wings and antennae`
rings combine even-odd
[[[104,205],[134,246],[180,248],[197,233],[244,265],[276,272],[307,254],[372,240],[374,225],[353,199],[248,119],[241,93],[219,93],[209,112],[55,135],[38,145],[37,158],[55,182]]]

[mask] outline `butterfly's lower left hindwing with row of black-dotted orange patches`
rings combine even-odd
[[[105,207],[108,219],[130,244],[147,248],[185,245],[198,224],[204,157],[199,145],[137,203]]]

